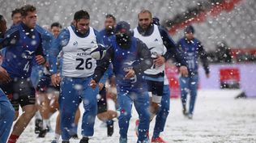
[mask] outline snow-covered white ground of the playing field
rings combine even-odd
[[[256,142],[256,99],[234,99],[239,90],[199,90],[193,120],[186,119],[181,113],[180,99],[171,99],[170,114],[162,133],[164,140],[178,143],[255,143]],[[81,107],[82,109],[82,107]],[[137,119],[133,111],[128,132],[128,142],[137,140],[134,133],[134,121]],[[51,117],[54,127],[55,115]],[[107,137],[107,129],[100,127],[96,120],[95,135],[91,143],[118,142],[118,124],[114,123],[113,137]],[[155,120],[151,122],[150,137]],[[79,132],[80,132],[79,128]],[[46,143],[53,139],[54,132],[45,138],[36,138],[34,119],[19,137],[18,143]],[[81,137],[81,135],[79,135]],[[71,143],[79,140],[71,140]]]

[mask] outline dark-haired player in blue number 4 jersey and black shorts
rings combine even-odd
[[[35,89],[30,79],[33,61],[45,64],[41,34],[36,31],[36,7],[23,6],[22,22],[11,27],[0,44],[6,47],[6,56],[2,68],[6,70],[11,82],[1,83],[2,90],[10,99],[15,111],[22,107],[23,114],[19,117],[11,132],[8,143],[15,143],[29,121],[35,115]],[[25,37],[25,38],[24,38]],[[18,116],[15,116],[15,120]]]

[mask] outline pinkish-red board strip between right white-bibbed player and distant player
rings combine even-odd
[[[170,98],[179,98],[181,95],[181,90],[177,66],[165,64],[165,73],[169,80]]]

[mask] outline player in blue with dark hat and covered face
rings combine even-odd
[[[138,142],[148,142],[149,128],[149,96],[143,71],[152,65],[151,53],[146,44],[134,38],[130,32],[130,24],[124,21],[117,23],[115,36],[111,38],[110,47],[105,57],[95,69],[91,86],[96,87],[100,78],[109,66],[113,64],[113,73],[117,81],[117,106],[120,143],[127,143],[127,132],[131,117],[131,107],[134,106],[139,114]]]

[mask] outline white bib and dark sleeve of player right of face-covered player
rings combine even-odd
[[[146,31],[142,27],[136,27],[134,28],[134,36],[147,44],[147,48],[150,49],[153,58],[156,58],[156,54],[163,56],[165,61],[174,57],[178,65],[186,65],[186,60],[182,53],[178,50],[174,41],[163,27],[151,24]],[[160,67],[152,65],[151,69],[145,71],[145,74],[164,77],[164,65]]]

